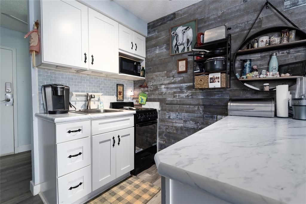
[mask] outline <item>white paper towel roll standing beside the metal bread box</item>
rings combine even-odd
[[[288,117],[288,85],[276,86],[276,115]]]

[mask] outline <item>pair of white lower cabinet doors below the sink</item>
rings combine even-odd
[[[134,128],[92,137],[92,190],[134,168]]]

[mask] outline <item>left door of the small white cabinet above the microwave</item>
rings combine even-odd
[[[119,49],[134,53],[134,31],[119,24]]]

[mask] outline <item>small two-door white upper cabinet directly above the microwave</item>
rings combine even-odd
[[[119,24],[119,49],[146,57],[146,38]]]

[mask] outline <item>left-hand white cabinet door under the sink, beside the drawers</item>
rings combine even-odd
[[[92,137],[92,191],[116,179],[116,134]]]

